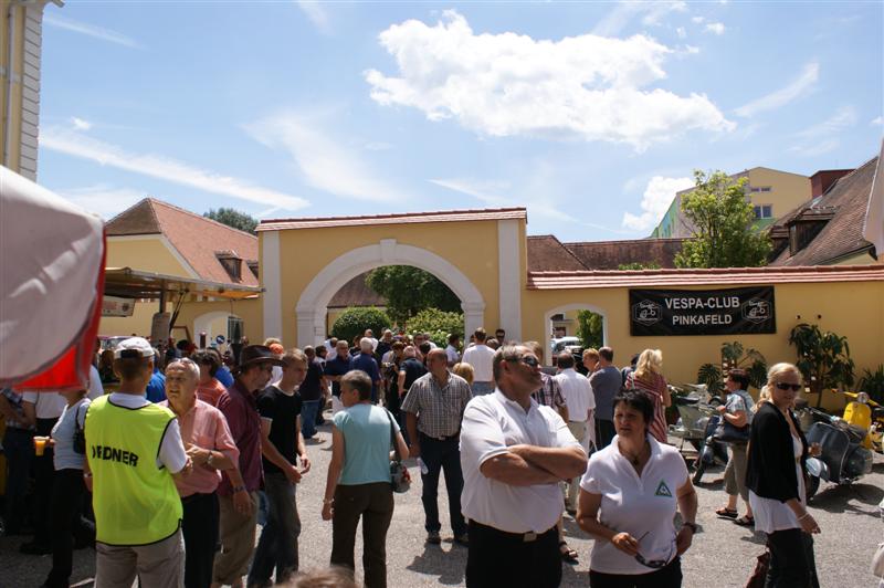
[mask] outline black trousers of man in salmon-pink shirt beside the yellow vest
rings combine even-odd
[[[218,544],[218,494],[191,494],[181,498],[185,536],[185,587],[209,588]]]

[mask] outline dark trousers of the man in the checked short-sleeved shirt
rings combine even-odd
[[[440,441],[423,433],[418,433],[421,441],[421,460],[429,470],[421,474],[421,502],[423,512],[427,515],[424,528],[427,531],[439,531],[442,524],[439,522],[439,474],[445,472],[445,490],[449,493],[449,516],[451,517],[451,528],[454,536],[466,533],[466,522],[461,513],[461,491],[463,491],[463,472],[461,471],[461,450],[460,440],[454,437]]]

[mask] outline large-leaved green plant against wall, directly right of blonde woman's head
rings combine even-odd
[[[854,364],[846,337],[801,323],[789,333],[789,345],[794,345],[798,353],[794,365],[804,376],[810,391],[819,395],[817,408],[822,403],[825,388],[853,385]]]

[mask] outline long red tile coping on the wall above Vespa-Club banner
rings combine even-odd
[[[800,282],[882,282],[884,265],[809,267],[716,267],[629,272],[529,272],[528,290],[663,287],[690,285],[783,284]]]

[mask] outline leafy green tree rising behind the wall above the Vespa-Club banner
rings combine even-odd
[[[693,225],[692,239],[675,255],[676,267],[757,267],[767,263],[770,239],[753,227],[746,178],[724,171],[694,170],[696,187],[682,198],[682,212]]]

